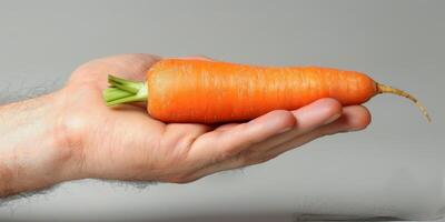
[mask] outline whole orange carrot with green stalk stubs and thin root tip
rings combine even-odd
[[[165,59],[146,82],[109,75],[107,105],[147,102],[151,117],[165,122],[246,121],[273,110],[295,110],[320,98],[343,105],[362,104],[376,94],[411,94],[375,82],[364,73],[318,67],[255,67],[228,62]]]

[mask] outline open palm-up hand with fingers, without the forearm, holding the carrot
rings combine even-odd
[[[72,73],[58,95],[63,101],[66,147],[72,150],[78,169],[70,179],[185,183],[261,163],[323,135],[362,130],[370,122],[364,107],[342,108],[333,99],[217,128],[165,124],[150,118],[144,105],[110,109],[103,104],[107,74],[144,80],[158,60],[150,54],[123,54],[88,62]]]

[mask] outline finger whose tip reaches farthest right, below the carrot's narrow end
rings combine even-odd
[[[343,109],[343,114],[338,120],[319,129],[316,129],[307,134],[271,148],[266,155],[268,158],[275,158],[286,151],[293,150],[324,135],[363,130],[367,125],[369,125],[370,119],[370,113],[365,107],[346,107]]]

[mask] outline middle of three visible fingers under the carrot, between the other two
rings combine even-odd
[[[305,134],[322,125],[328,124],[337,120],[342,114],[342,104],[334,99],[320,99],[301,109],[293,111],[297,124],[286,133],[276,135],[265,141],[255,150],[266,152],[267,149],[290,141],[301,134]]]

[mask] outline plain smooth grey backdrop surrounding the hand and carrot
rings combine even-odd
[[[78,181],[10,201],[0,219],[276,220],[299,213],[433,219],[444,206],[445,1],[0,1],[1,100],[61,87],[117,53],[365,71],[416,94],[366,105],[363,132],[188,185]],[[444,209],[442,209],[443,211]]]

